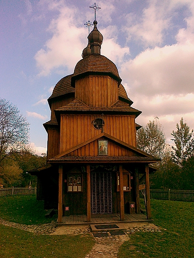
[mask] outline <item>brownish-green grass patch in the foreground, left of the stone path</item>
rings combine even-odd
[[[0,258],[84,258],[92,249],[90,235],[35,235],[0,225]]]

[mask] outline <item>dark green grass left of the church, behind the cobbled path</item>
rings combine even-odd
[[[44,201],[35,195],[13,195],[0,197],[0,218],[25,225],[50,223],[57,219],[45,217]]]

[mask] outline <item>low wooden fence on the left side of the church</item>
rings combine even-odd
[[[0,188],[0,196],[4,195],[15,195],[15,194],[36,194],[36,187],[24,188],[24,187],[10,187]]]

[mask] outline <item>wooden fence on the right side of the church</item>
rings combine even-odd
[[[140,197],[143,197],[141,191]],[[163,200],[194,201],[194,190],[150,189],[150,198]]]

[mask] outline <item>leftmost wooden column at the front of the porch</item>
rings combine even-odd
[[[62,215],[63,215],[63,166],[59,165],[58,223],[62,223]]]

